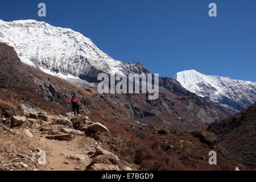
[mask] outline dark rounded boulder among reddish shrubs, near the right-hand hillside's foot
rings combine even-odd
[[[200,138],[200,141],[214,148],[217,144],[217,137],[214,133],[203,129],[197,129],[190,132],[194,137]]]

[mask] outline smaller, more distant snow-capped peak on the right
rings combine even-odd
[[[232,113],[237,113],[256,102],[256,82],[253,81],[209,76],[195,70],[179,72],[174,78],[185,89],[210,102],[220,104]]]

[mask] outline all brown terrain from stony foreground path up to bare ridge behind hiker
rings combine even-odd
[[[162,87],[155,101],[146,94],[98,94],[22,63],[6,44],[0,44],[0,70],[0,169],[246,169],[216,146],[213,133],[177,129],[225,117],[177,81],[165,78],[169,89]],[[81,101],[77,117],[68,113],[73,92]],[[211,150],[218,155],[214,166]]]

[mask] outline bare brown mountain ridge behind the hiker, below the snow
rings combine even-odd
[[[98,94],[96,90],[69,84],[22,63],[14,49],[6,44],[0,44],[0,49],[3,56],[0,60],[0,93],[30,101],[52,114],[70,110],[70,97],[75,92],[82,110],[101,111],[117,122],[131,125],[140,122],[189,130],[206,128],[209,123],[226,117],[217,107],[171,78],[160,81],[158,100],[148,100],[147,94]],[[50,104],[51,101],[55,104]]]

